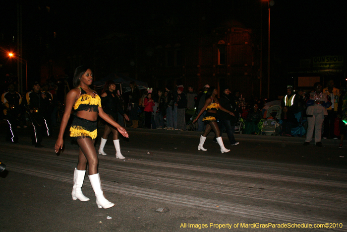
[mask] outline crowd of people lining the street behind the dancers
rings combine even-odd
[[[6,140],[18,142],[16,130],[30,126],[33,121],[33,117],[30,117],[32,109],[28,105],[29,95],[31,92],[35,92],[35,86],[33,85],[33,89],[24,93],[15,91],[17,89],[15,80],[6,83],[6,86],[7,88],[2,90],[1,100],[4,110],[2,118],[8,121],[9,128],[12,129],[12,131],[8,130]],[[199,117],[195,125],[191,125],[191,122],[204,106],[209,84],[205,84],[198,91],[192,85],[185,88],[179,81],[175,86],[167,85],[165,88],[159,89],[140,90],[135,82],[131,82],[129,86],[131,90],[128,93],[120,94],[120,89],[117,89],[117,96],[122,103],[121,107],[130,118],[128,122],[125,122],[122,115],[119,114],[117,121],[120,125],[130,128],[180,131],[193,129],[203,132],[205,130],[206,126],[202,119],[206,112]],[[47,110],[42,112],[42,118],[48,128],[54,128],[59,121],[60,106],[64,104],[66,78],[60,78],[58,81],[49,79],[47,82],[39,84],[39,87],[37,95],[45,95],[42,102],[47,104],[44,106]],[[268,117],[266,114],[266,110],[269,108],[267,101],[258,97],[245,99],[239,90],[232,91],[229,87],[225,87],[220,89],[220,104],[224,104],[223,107],[228,108],[234,116],[226,117],[218,111],[220,117],[218,126],[221,134],[223,132],[228,134],[231,144],[238,144],[233,137],[235,125],[241,125],[240,133],[260,135],[262,134],[262,122],[274,119],[281,125],[280,136],[295,136],[293,130],[303,127],[304,133],[299,136],[306,137],[304,145],[308,145],[313,138],[319,147],[322,146],[322,139],[340,139],[339,147],[342,148],[347,131],[346,93],[347,85],[339,89],[335,87],[332,79],[327,82],[325,87],[317,82],[312,90],[300,88],[294,90],[289,86],[287,94],[276,103],[281,105],[282,110],[279,115]],[[11,101],[18,102],[9,103],[6,98],[12,98]],[[16,100],[16,98],[18,99]],[[16,120],[13,121],[13,118]],[[35,127],[34,124],[33,126]],[[47,129],[44,130],[44,134],[48,134]],[[40,141],[34,142],[33,139],[33,144],[36,146],[40,147],[40,143]]]

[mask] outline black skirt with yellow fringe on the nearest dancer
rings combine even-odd
[[[94,140],[98,136],[98,121],[90,121],[75,116],[70,127],[70,137],[74,140],[91,138]]]

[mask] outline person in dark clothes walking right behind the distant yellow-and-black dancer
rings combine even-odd
[[[219,98],[219,104],[224,109],[229,110],[236,115],[236,102],[232,94],[230,94],[230,89],[228,86],[224,88],[224,91]],[[239,142],[237,142],[234,137],[236,117],[224,112],[223,110],[218,110],[217,115],[219,118],[218,126],[221,131],[221,136],[223,131],[226,130],[230,145],[238,145]],[[213,142],[217,143],[216,137],[213,139]]]

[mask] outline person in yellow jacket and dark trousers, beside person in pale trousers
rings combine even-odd
[[[335,129],[335,118],[337,116],[339,98],[340,98],[340,89],[334,87],[334,80],[329,80],[327,83],[327,87],[323,89],[323,92],[328,95],[331,106],[327,108],[328,116],[324,119],[324,131],[323,131],[323,139],[331,138],[338,139],[338,134],[334,134]]]

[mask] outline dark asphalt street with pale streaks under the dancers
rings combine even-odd
[[[98,155],[104,194],[116,204],[98,209],[88,177],[91,200],[71,198],[78,146],[68,137],[56,155],[57,131],[35,148],[30,128],[19,129],[18,144],[0,129],[1,232],[347,231],[347,146],[336,140],[319,148],[235,135],[240,144],[230,146],[223,135],[231,152],[221,154],[213,133],[203,152],[199,132],[128,129],[126,159],[116,159],[111,136]]]

